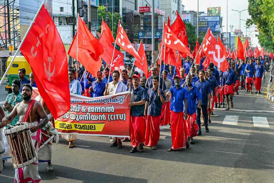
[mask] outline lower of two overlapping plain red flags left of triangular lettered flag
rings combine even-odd
[[[113,55],[114,46],[112,45],[112,43],[108,39],[107,34],[106,34],[105,31],[103,31],[103,33],[101,34],[99,42],[102,44],[103,49],[104,49],[104,52],[100,55],[100,57],[102,59],[104,59],[104,61],[107,64],[110,64],[111,59],[112,59],[112,55]],[[118,53],[119,53],[119,51],[115,49],[114,56],[116,56]]]

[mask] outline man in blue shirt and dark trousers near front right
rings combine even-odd
[[[207,116],[207,109],[210,108],[210,93],[211,93],[211,88],[210,84],[208,81],[205,80],[205,71],[200,70],[199,71],[199,81],[195,83],[195,86],[198,88],[199,92],[202,94],[202,100],[201,100],[201,108],[196,108],[196,113],[197,113],[197,124],[199,126],[199,132],[197,135],[202,135],[201,131],[201,110],[203,112],[204,118],[205,118],[205,127],[206,127],[206,132],[209,132],[208,129],[208,116]],[[196,101],[196,104],[198,102]]]

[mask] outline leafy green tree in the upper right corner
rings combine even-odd
[[[258,40],[262,47],[274,50],[274,1],[273,0],[249,0],[248,12],[251,19],[247,26],[255,24],[258,27]]]

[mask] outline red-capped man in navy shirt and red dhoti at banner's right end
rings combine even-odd
[[[133,86],[130,88],[130,102],[128,103],[130,107],[130,139],[132,149],[130,153],[137,152],[137,147],[139,146],[139,151],[144,152],[143,143],[145,142],[146,135],[146,121],[143,118],[145,110],[145,90],[139,86],[139,76],[132,76]]]

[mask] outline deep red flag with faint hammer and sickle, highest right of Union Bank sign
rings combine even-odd
[[[172,32],[174,32],[174,34],[176,35],[176,37],[178,37],[180,39],[180,41],[182,43],[184,43],[184,45],[188,45],[188,41],[187,41],[187,35],[186,35],[186,26],[184,21],[182,20],[182,18],[180,17],[180,14],[178,11],[176,11],[177,14],[177,18],[174,21],[174,23],[172,24],[172,26],[170,26],[170,29]]]

